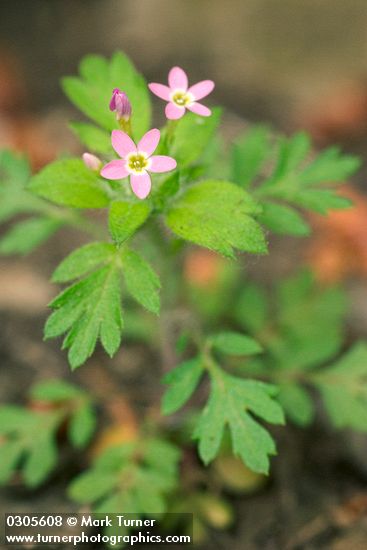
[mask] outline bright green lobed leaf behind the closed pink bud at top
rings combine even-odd
[[[79,66],[80,77],[66,77],[62,80],[65,94],[87,117],[103,129],[111,131],[118,128],[116,114],[109,110],[109,102],[114,88],[120,88],[129,97],[132,105],[132,128],[136,139],[140,138],[150,126],[151,106],[148,88],[129,58],[116,52],[110,61],[99,55],[88,55]],[[77,130],[80,132],[80,127]],[[81,130],[83,143],[86,140],[95,151],[98,139],[90,138],[89,131]],[[79,133],[80,135],[80,133]]]

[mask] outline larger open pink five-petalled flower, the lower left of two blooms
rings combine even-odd
[[[175,159],[163,155],[154,155],[160,140],[160,131],[149,130],[137,145],[130,136],[121,130],[112,131],[112,147],[121,159],[106,164],[101,175],[109,180],[119,180],[130,176],[133,192],[139,199],[149,195],[151,180],[148,172],[169,172],[176,168]]]

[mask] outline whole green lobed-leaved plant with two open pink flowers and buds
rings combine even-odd
[[[159,319],[138,314],[132,301],[159,315],[162,296],[169,325],[170,311],[186,300],[188,314],[180,327],[186,345],[163,378],[162,415],[181,410],[192,396],[195,403],[195,395],[204,392],[202,410],[193,405],[180,414],[195,411],[192,436],[205,464],[230,447],[249,469],[267,474],[276,453],[268,425],[284,424],[285,418],[310,424],[313,390],[336,428],[366,430],[367,346],[358,342],[345,351],[341,289],[321,289],[303,272],[269,291],[244,281],[236,270],[215,296],[203,290],[190,302],[182,279],[192,244],[233,264],[240,253],[268,254],[270,233],[307,236],[305,211],[327,214],[350,206],[337,186],[359,160],[336,147],[315,155],[305,133],[277,137],[263,126],[224,145],[218,138],[221,109],[201,103],[212,81],[189,85],[186,73],[175,67],[168,85],[147,85],[122,53],[109,61],[87,56],[80,76],[64,78],[62,86],[92,121],[71,123],[87,151],[33,176],[25,160],[2,153],[0,219],[29,217],[16,221],[0,251],[28,253],[67,225],[90,239],[52,276],[67,286],[50,304],[45,338],[63,336],[71,368],[83,365],[98,341],[114,356],[124,345],[124,332],[133,333],[133,317],[147,345],[156,343]],[[152,94],[167,102],[160,130],[151,123]],[[108,228],[88,217],[95,209],[106,210]],[[208,314],[203,302],[210,300],[216,306]],[[43,411],[48,421],[42,431],[46,417],[40,411],[11,405],[0,410],[4,483],[18,468],[30,486],[45,479],[55,466],[55,434],[65,419],[76,447],[85,446],[95,429],[86,392],[54,381],[38,384],[32,393],[62,406]],[[24,430],[38,437],[26,440]],[[179,451],[162,430],[157,434],[153,430],[142,441],[107,449],[73,482],[72,498],[98,511],[164,511],[165,498],[177,490]],[[123,471],[135,477],[122,491],[117,480]]]

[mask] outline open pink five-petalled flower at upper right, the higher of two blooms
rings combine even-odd
[[[171,120],[181,118],[186,109],[201,116],[211,115],[211,110],[198,103],[198,100],[206,97],[214,89],[212,80],[202,80],[188,88],[185,71],[180,67],[173,67],[168,74],[168,84],[169,86],[155,82],[149,84],[149,89],[153,94],[169,102],[166,105],[167,118]]]

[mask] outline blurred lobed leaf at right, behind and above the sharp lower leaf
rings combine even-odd
[[[247,368],[274,380],[287,416],[305,426],[314,418],[309,388],[315,386],[315,369],[333,359],[343,345],[345,295],[337,287],[320,288],[303,271],[277,285],[274,309],[266,302],[266,293],[250,284],[236,305],[237,321],[264,348],[261,358]]]

